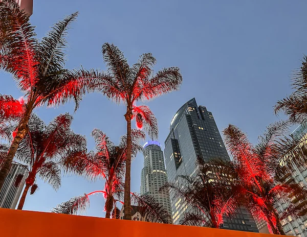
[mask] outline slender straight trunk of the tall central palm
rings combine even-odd
[[[125,174],[124,211],[125,220],[131,220],[130,179],[131,179],[131,116],[132,111],[128,108],[125,118],[127,121],[127,155]]]

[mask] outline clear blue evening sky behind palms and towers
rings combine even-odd
[[[179,66],[184,79],[181,90],[147,104],[158,118],[159,141],[164,148],[172,116],[193,97],[213,113],[220,131],[234,124],[254,143],[261,131],[278,119],[272,108],[291,92],[291,72],[307,54],[306,8],[307,2],[298,0],[34,0],[31,21],[41,38],[58,19],[79,11],[70,30],[68,68],[105,69],[101,57],[104,42],[119,46],[130,64],[150,52],[157,58],[156,70]],[[0,76],[0,93],[20,97],[11,77]],[[46,122],[73,111],[72,103],[36,110]],[[86,135],[89,149],[94,148],[90,136],[94,128],[117,143],[126,132],[124,113],[123,106],[101,94],[88,94],[74,114],[72,128]],[[132,191],[139,192],[142,168],[139,154],[133,162]],[[102,189],[103,182],[70,176],[62,179],[58,192],[41,181],[38,186],[34,195],[28,195],[24,209],[49,211],[71,197]],[[90,200],[86,215],[103,217],[102,195]]]

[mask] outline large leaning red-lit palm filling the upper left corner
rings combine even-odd
[[[78,13],[57,22],[47,36],[38,41],[29,16],[19,9],[16,1],[2,1],[0,12],[0,69],[13,75],[18,87],[24,92],[25,101],[16,136],[1,165],[1,188],[19,143],[28,133],[32,111],[38,106],[60,105],[71,99],[74,99],[77,109],[82,94],[92,91],[93,83],[97,83],[103,74],[95,70],[64,68],[67,46],[65,37]]]

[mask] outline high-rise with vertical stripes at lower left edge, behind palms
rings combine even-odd
[[[21,191],[25,184],[26,168],[20,164],[13,164],[12,168],[6,177],[3,187],[0,191],[0,207],[15,209]],[[23,174],[24,178],[21,180],[18,187],[15,186],[16,177],[19,174]]]

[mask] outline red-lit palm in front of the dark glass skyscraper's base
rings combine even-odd
[[[236,195],[228,185],[229,180],[212,173],[213,163],[205,163],[198,158],[196,176],[179,176],[177,183],[166,183],[160,191],[169,191],[174,200],[182,200],[188,209],[180,220],[181,225],[206,226],[220,228],[223,216],[232,215],[237,209]],[[215,169],[223,172],[219,164]],[[222,176],[223,177],[223,176]]]

